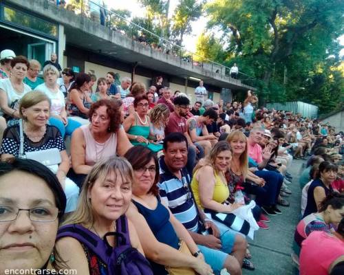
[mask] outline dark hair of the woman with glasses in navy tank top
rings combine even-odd
[[[131,147],[127,151],[127,153],[125,153],[125,158],[128,160],[128,162],[131,163],[131,166],[133,166],[134,171],[146,166],[151,161],[151,159],[154,160],[155,177],[154,177],[153,185],[151,186],[148,192],[157,196],[159,194],[159,188],[158,188],[159,162],[158,162],[158,157],[156,156],[156,154],[153,151],[151,151],[149,148],[144,147],[142,145],[138,145],[138,146]]]

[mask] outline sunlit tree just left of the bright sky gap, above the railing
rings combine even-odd
[[[172,35],[182,45],[185,34],[191,34],[191,23],[200,18],[203,3],[197,0],[180,0],[172,17]]]

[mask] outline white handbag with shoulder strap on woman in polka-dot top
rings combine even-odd
[[[23,120],[19,120],[19,158],[21,159],[33,159],[36,162],[41,162],[41,164],[50,168],[53,173],[56,174],[58,170],[58,164],[61,163],[61,154],[58,148],[50,148],[40,151],[24,152],[24,134],[23,134]]]

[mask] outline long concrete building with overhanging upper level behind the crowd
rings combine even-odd
[[[87,2],[87,1],[84,1]],[[142,45],[128,34],[111,30],[80,12],[72,12],[48,0],[0,0],[0,50],[11,49],[40,63],[56,52],[61,67],[76,72],[94,72],[103,77],[109,71],[147,87],[156,76],[164,85],[194,98],[198,80],[204,80],[209,98],[230,98],[232,91],[255,89],[230,78],[217,63],[202,66],[183,61]],[[227,96],[227,97],[226,97]]]

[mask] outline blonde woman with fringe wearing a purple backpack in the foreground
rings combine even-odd
[[[68,225],[73,225],[97,242],[106,239],[109,248],[116,248],[123,242],[122,238],[121,242],[115,238],[116,233],[123,236],[124,232],[129,231],[125,241],[144,256],[136,229],[125,217],[131,201],[132,182],[133,169],[127,159],[122,157],[101,159],[92,168],[80,192],[76,211],[63,223],[65,226],[58,230],[56,251],[61,259],[54,262],[56,269],[61,270],[67,264],[68,269],[76,270],[77,274],[94,275],[107,274],[109,268],[108,263],[80,241],[78,235],[63,234],[68,230]]]

